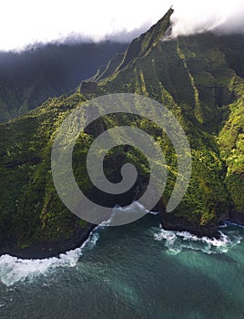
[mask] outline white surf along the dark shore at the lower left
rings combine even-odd
[[[97,229],[90,233],[90,236],[79,248],[66,253],[61,253],[59,257],[46,259],[27,260],[20,259],[10,255],[0,257],[0,280],[6,286],[13,285],[17,282],[28,280],[32,282],[39,275],[44,275],[58,267],[74,267],[80,256],[87,249],[92,249],[99,238]]]

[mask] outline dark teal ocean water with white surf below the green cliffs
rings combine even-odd
[[[97,226],[60,258],[1,256],[0,318],[244,318],[244,229],[219,232],[219,240],[167,232],[148,213]]]

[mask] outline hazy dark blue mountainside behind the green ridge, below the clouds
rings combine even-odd
[[[126,46],[112,42],[53,44],[19,53],[0,52],[0,121],[75,89]]]

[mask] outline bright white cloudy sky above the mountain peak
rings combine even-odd
[[[244,33],[243,0],[0,0],[0,50],[36,43],[106,39],[128,42],[173,5],[173,34]]]

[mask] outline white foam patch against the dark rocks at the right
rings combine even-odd
[[[154,228],[154,239],[164,241],[165,247],[171,254],[177,254],[184,249],[191,249],[205,253],[229,252],[229,249],[238,244],[242,237],[235,234],[225,234],[219,231],[219,239],[198,237],[189,232],[172,232]]]

